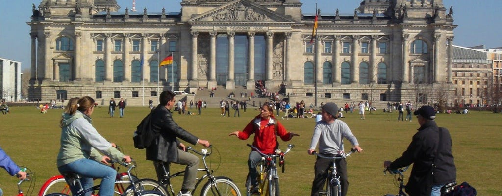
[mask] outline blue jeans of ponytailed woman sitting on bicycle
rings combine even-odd
[[[101,164],[91,159],[81,158],[68,164],[61,165],[58,167],[58,170],[59,173],[72,172],[79,174],[81,177],[80,183],[84,190],[94,185],[94,180],[92,178],[102,178],[101,185],[99,185],[99,195],[113,196],[113,186],[115,184],[117,172],[108,165]],[[68,183],[68,179],[66,179],[66,182]],[[73,195],[77,195],[78,189],[78,185],[70,186]],[[91,191],[85,193],[85,196],[90,195]]]

